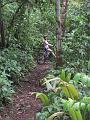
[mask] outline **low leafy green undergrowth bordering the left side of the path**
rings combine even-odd
[[[24,74],[35,67],[29,49],[10,47],[0,51],[0,106],[11,101],[13,86],[18,84]]]

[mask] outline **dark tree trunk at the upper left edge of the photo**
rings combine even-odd
[[[4,25],[2,21],[2,1],[0,0],[0,47],[5,47]]]

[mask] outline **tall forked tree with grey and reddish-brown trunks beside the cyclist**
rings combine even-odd
[[[62,8],[60,8],[60,0],[56,0],[56,38],[57,38],[57,53],[56,59],[57,64],[62,66],[62,49],[61,49],[61,42],[63,40],[64,32],[65,32],[65,19],[67,13],[67,2],[68,0],[62,0]],[[61,9],[61,16],[60,16],[60,9]]]

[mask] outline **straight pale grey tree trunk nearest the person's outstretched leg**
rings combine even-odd
[[[56,0],[56,62],[58,66],[62,66],[61,58],[61,25],[60,25],[60,0]]]

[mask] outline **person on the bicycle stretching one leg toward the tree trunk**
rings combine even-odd
[[[48,53],[51,52],[52,55],[56,58],[54,52],[50,49],[50,47],[52,47],[53,45],[48,43],[47,35],[45,35],[43,37],[43,44],[44,44],[44,49],[45,49],[45,52],[46,52],[47,56],[48,56]]]

